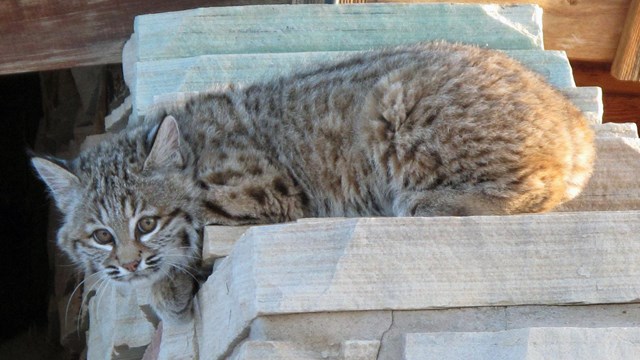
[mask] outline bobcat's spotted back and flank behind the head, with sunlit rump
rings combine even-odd
[[[363,53],[168,113],[214,154],[199,164],[205,183],[250,186],[228,176],[243,173],[269,188],[275,175],[251,174],[274,167],[300,194],[296,216],[547,211],[580,192],[594,158],[586,120],[539,75],[448,43]]]

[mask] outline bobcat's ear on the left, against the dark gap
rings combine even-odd
[[[49,187],[58,209],[63,213],[68,212],[80,188],[78,177],[62,166],[40,157],[32,158],[31,164]]]

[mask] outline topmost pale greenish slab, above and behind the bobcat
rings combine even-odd
[[[352,51],[436,39],[499,49],[542,49],[541,16],[535,5],[274,5],[194,9],[137,17],[135,60],[208,54]]]

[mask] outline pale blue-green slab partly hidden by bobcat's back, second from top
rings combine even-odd
[[[135,64],[135,76],[129,80],[133,94],[133,118],[144,116],[153,103],[154,96],[206,91],[229,82],[246,84],[269,80],[296,69],[307,68],[319,61],[339,60],[353,53],[229,54],[139,62]],[[571,67],[563,52],[507,50],[506,53],[545,76],[558,88],[575,86]]]

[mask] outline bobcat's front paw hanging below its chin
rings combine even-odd
[[[185,323],[193,318],[194,280],[186,273],[172,271],[151,286],[152,306],[167,323]]]

